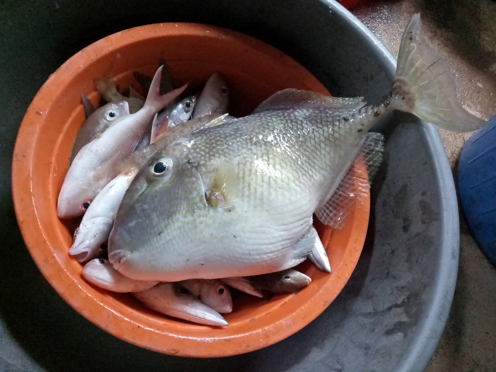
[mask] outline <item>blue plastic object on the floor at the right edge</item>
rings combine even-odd
[[[463,147],[458,189],[469,228],[496,266],[496,117]]]

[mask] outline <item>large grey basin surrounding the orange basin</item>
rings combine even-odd
[[[0,370],[423,371],[444,327],[458,264],[458,208],[437,130],[395,114],[379,125],[385,162],[368,239],[338,298],[300,332],[222,359],[127,344],[72,310],[43,279],[17,229],[10,160],[19,124],[48,75],[88,44],[129,27],[189,21],[255,36],[295,58],[333,95],[379,101],[395,59],[334,1],[13,1],[0,10]]]

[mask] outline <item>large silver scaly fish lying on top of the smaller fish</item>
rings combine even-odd
[[[129,278],[158,281],[297,265],[317,244],[313,213],[326,215],[367,132],[386,113],[412,113],[456,131],[486,124],[456,101],[448,71],[416,14],[383,102],[361,107],[350,100],[346,110],[343,100],[336,109],[335,99],[282,91],[248,117],[177,140],[150,158],[124,195],[110,262]]]

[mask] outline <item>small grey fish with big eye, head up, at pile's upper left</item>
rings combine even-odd
[[[129,106],[126,101],[108,103],[96,109],[77,132],[69,159],[69,167],[81,148],[100,136],[118,119],[129,115]]]

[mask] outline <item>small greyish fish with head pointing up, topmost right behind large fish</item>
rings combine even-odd
[[[226,114],[229,106],[229,88],[222,75],[215,72],[205,83],[193,110],[193,119],[207,114]]]

